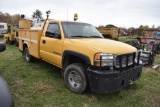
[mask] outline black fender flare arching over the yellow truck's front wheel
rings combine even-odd
[[[64,58],[67,56],[67,55],[73,55],[73,56],[76,56],[76,57],[79,57],[81,59],[83,59],[87,65],[91,65],[91,61],[90,61],[90,58],[83,54],[83,53],[79,53],[79,52],[75,52],[75,51],[71,51],[71,50],[65,50],[64,53],[63,53],[63,57],[62,57],[62,65],[64,64]]]

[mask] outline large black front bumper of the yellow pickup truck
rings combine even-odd
[[[87,69],[90,88],[96,93],[115,92],[128,86],[140,78],[142,66],[135,66],[127,70],[94,70]]]

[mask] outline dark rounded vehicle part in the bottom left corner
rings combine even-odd
[[[14,107],[10,90],[2,77],[0,77],[0,107]]]

